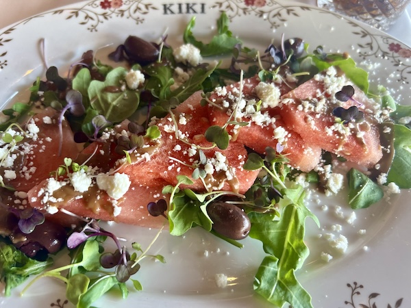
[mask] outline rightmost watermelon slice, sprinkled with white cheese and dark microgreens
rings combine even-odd
[[[344,81],[345,78],[340,83],[344,85]],[[334,98],[336,90],[329,91],[324,81],[311,79],[282,97],[280,114],[288,129],[297,131],[306,143],[343,156],[350,162],[372,167],[382,157],[374,120],[366,115],[361,123],[343,125],[336,123],[336,116],[332,114],[339,106],[347,109],[356,105],[360,110],[369,106],[365,94],[355,89],[353,98],[363,103],[362,106],[353,100],[337,101]]]

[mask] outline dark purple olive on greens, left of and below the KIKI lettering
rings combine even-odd
[[[129,60],[142,65],[157,60],[160,52],[151,42],[137,36],[129,36],[125,40],[124,51]]]

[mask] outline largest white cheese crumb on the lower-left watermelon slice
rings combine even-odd
[[[97,175],[99,189],[105,190],[111,198],[116,200],[124,196],[131,183],[125,173],[114,173],[114,175],[99,173]]]

